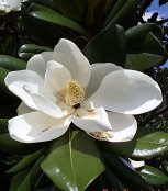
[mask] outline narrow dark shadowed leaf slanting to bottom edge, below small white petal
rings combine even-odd
[[[136,191],[150,190],[149,184],[137,172],[121,161],[117,156],[114,156],[110,153],[103,153],[103,157],[105,165],[128,189]]]

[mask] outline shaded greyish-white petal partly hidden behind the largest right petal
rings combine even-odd
[[[89,98],[99,88],[102,79],[110,72],[123,69],[112,63],[97,63],[91,65],[91,76],[86,89],[86,98]]]

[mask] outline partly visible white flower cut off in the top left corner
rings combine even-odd
[[[10,11],[19,11],[21,9],[21,2],[27,0],[0,0],[0,13],[5,14]]]

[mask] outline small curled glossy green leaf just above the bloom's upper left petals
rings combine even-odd
[[[49,52],[52,48],[45,46],[38,46],[35,44],[24,44],[19,49],[19,56],[21,59],[29,60],[35,54],[40,54],[42,52]]]

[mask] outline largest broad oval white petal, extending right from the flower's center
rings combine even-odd
[[[103,106],[125,114],[141,114],[158,106],[161,91],[149,76],[134,70],[117,70],[104,77],[99,89],[85,103],[85,108]]]

